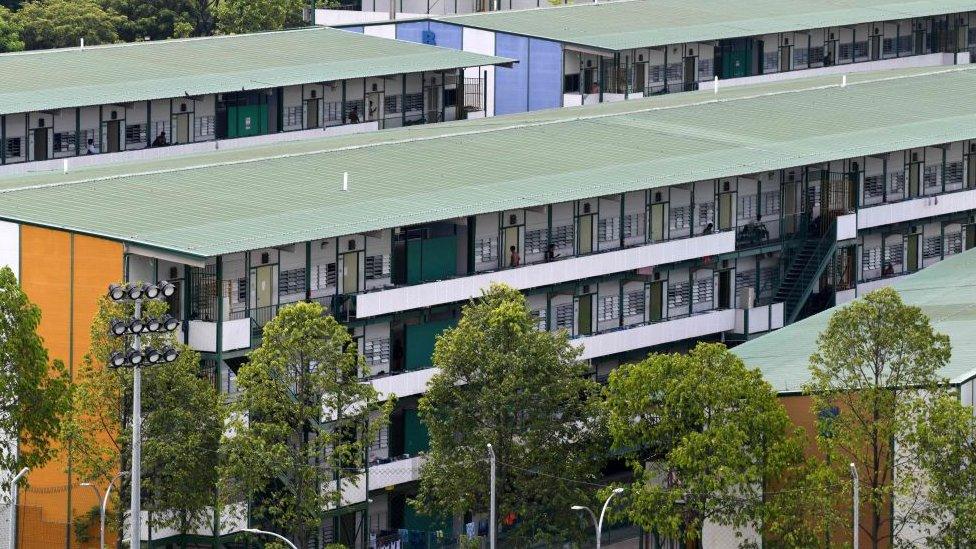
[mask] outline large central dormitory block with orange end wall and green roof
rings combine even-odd
[[[174,280],[185,341],[231,393],[281,306],[323,303],[354,331],[364,382],[400,397],[372,501],[350,487],[342,531],[367,508],[374,529],[425,530],[405,506],[427,444],[416,404],[466,300],[522,290],[597,377],[782,326],[838,285],[838,249],[976,208],[955,175],[961,161],[966,187],[976,166],[974,84],[965,68],[831,76],[5,176],[0,263],[69,367],[106,284]]]

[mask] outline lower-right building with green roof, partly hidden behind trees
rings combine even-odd
[[[976,252],[967,251],[911,276],[888,279],[905,304],[921,308],[931,320],[932,329],[949,337],[952,356],[938,374],[957,391],[960,401],[971,407],[976,405],[976,355],[972,346],[972,336],[976,330],[976,316],[973,314],[976,311],[976,292],[972,283],[974,271]],[[818,418],[812,410],[810,396],[803,394],[803,386],[810,381],[809,357],[817,351],[817,336],[827,328],[834,312],[836,307],[733,349],[747,365],[762,371],[763,377],[780,394],[780,400],[791,419],[811,436],[816,433]],[[947,449],[946,453],[949,452]],[[899,460],[899,463],[905,466],[910,461]],[[916,472],[909,471],[908,474],[914,475]],[[898,475],[899,471],[896,471],[893,476]],[[906,505],[903,504],[904,499],[901,494],[895,495],[889,512],[901,512]],[[917,504],[913,500],[907,505]],[[862,513],[861,520],[864,521],[861,531],[870,531],[870,518]],[[892,536],[897,541],[893,540],[890,545],[927,546],[919,529],[913,526],[893,530]],[[707,533],[706,529],[706,536]],[[832,541],[837,545],[849,539],[850,535],[846,532],[832,535]],[[703,541],[705,547],[722,547],[721,542],[725,540],[715,540],[716,543],[711,544],[706,537]],[[862,534],[862,546],[868,543],[870,540]]]

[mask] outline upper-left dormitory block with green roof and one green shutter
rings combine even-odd
[[[325,28],[3,54],[0,173],[484,116],[462,71],[500,62]]]

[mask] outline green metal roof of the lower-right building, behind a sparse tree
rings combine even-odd
[[[941,374],[953,384],[976,376],[976,250],[950,257],[896,281],[908,305],[920,307],[932,327],[952,342],[952,358]],[[781,330],[743,343],[733,349],[750,368],[780,392],[798,392],[810,379],[809,359],[817,350],[817,336],[837,307],[823,311]]]

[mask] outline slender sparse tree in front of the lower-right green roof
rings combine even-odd
[[[949,338],[932,329],[921,309],[884,288],[835,312],[810,357],[806,391],[813,412],[827,418],[817,442],[839,478],[850,478],[848,464],[856,465],[867,507],[861,531],[872,547],[893,542],[923,501],[917,475],[894,474],[917,469],[918,453],[899,444],[944,390],[938,372],[949,356]]]

